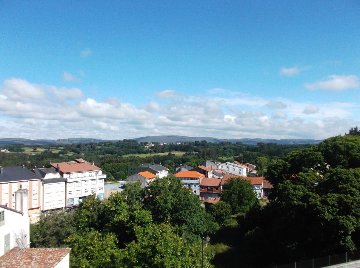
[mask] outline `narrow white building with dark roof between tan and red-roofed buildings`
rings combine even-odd
[[[53,167],[35,168],[33,171],[42,177],[41,181],[41,212],[49,209],[64,209],[66,181]]]

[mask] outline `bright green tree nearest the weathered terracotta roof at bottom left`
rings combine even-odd
[[[116,235],[88,230],[65,240],[71,247],[71,267],[120,267]]]

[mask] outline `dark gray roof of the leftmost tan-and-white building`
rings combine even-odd
[[[26,167],[3,167],[0,172],[0,182],[27,181],[42,179],[42,176]]]

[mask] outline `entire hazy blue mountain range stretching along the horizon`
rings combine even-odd
[[[270,143],[276,142],[278,144],[315,144],[320,143],[323,140],[314,140],[314,139],[217,139],[211,137],[186,137],[186,136],[147,136],[135,138],[138,142],[158,142],[158,143],[177,143],[177,142],[194,142],[195,140],[206,140],[207,142],[242,142],[243,144],[256,145],[258,142]],[[116,142],[118,140],[102,140],[102,139],[93,139],[93,138],[69,138],[69,139],[20,139],[20,138],[6,138],[0,139],[0,145],[6,144],[24,144],[24,145],[50,145],[50,144],[71,144],[71,143],[87,143],[87,142]]]

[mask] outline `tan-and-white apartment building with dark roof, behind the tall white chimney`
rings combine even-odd
[[[24,165],[19,167],[0,166],[0,204],[15,209],[15,192],[28,189],[28,214],[35,221],[41,213],[42,176]]]

